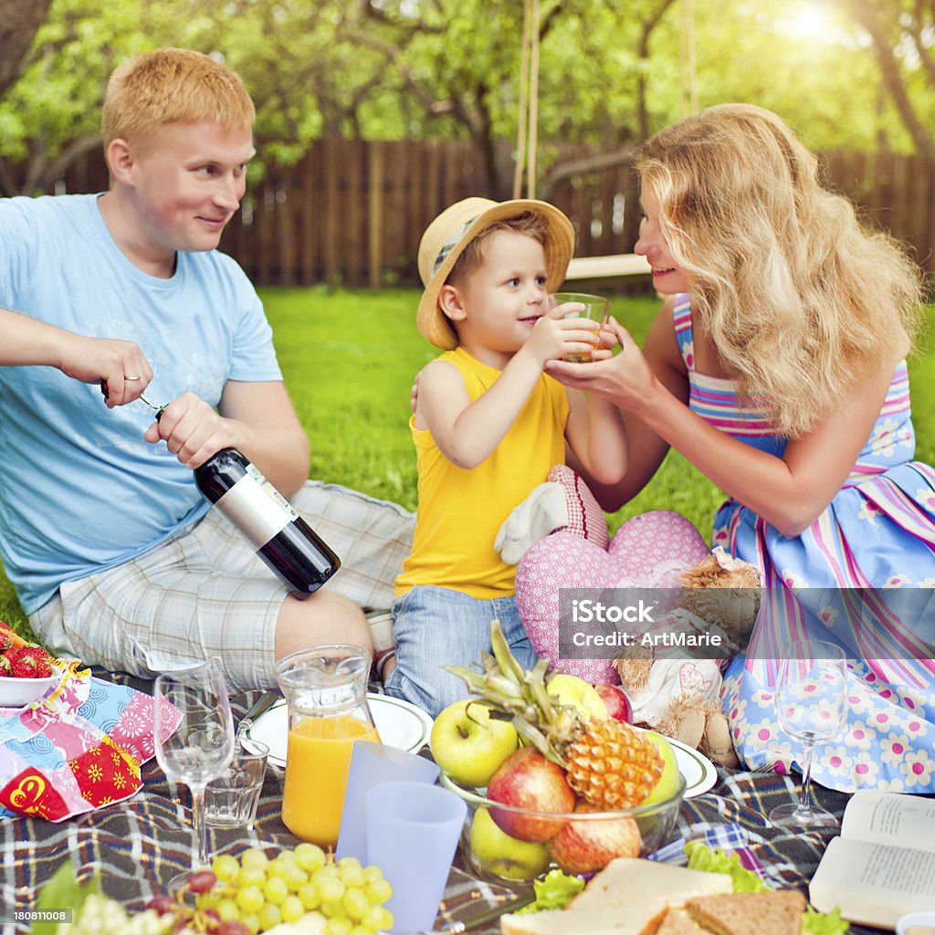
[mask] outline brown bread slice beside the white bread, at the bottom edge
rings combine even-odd
[[[688,899],[685,909],[714,935],[801,935],[805,897],[794,889]]]

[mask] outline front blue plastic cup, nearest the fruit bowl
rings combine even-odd
[[[434,928],[467,813],[438,785],[385,783],[367,792],[367,859],[393,886],[391,932]]]

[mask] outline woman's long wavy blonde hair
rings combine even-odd
[[[774,113],[726,104],[662,130],[637,162],[669,252],[743,399],[790,438],[912,345],[921,273],[818,180]]]

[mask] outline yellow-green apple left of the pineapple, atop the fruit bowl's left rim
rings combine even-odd
[[[462,698],[439,712],[432,727],[432,755],[455,783],[482,786],[519,745],[509,721],[490,716],[473,698]]]

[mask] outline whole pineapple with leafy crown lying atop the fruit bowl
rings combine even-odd
[[[546,689],[549,663],[540,659],[525,671],[510,652],[500,622],[490,623],[493,655],[483,654],[483,671],[447,667],[494,717],[510,719],[517,733],[566,772],[568,785],[604,811],[639,805],[662,775],[663,759],[640,731],[610,718],[588,718],[563,705]]]

